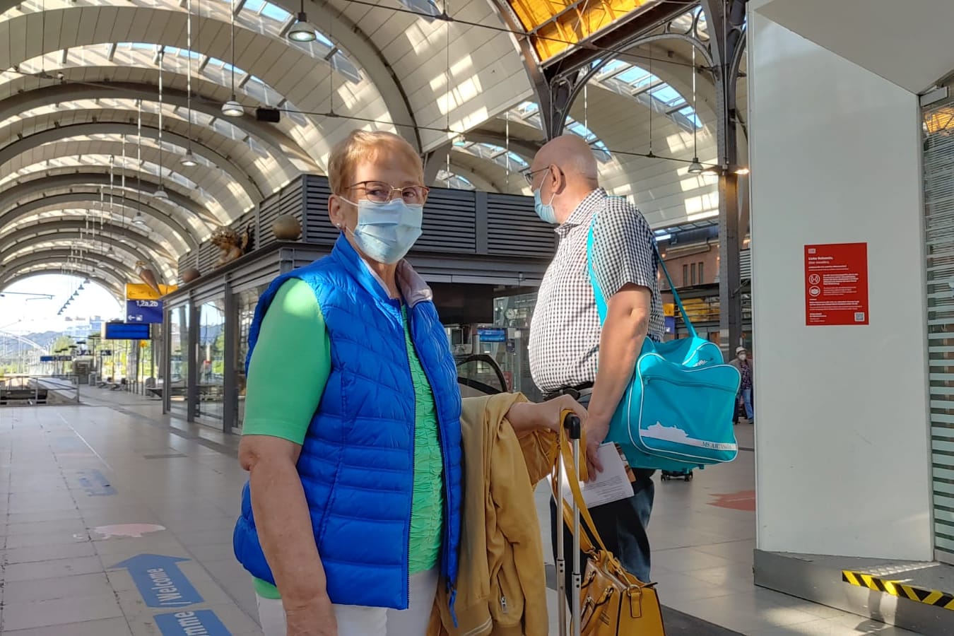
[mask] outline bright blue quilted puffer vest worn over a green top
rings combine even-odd
[[[340,237],[330,256],[281,275],[262,294],[249,331],[246,368],[261,319],[291,277],[315,290],[331,339],[331,374],[298,462],[328,596],[340,605],[405,609],[415,407],[401,302],[387,297],[361,256]],[[441,573],[453,604],[461,534],[457,369],[430,289],[406,263],[399,266],[398,278],[411,338],[437,406],[446,500]],[[233,544],[245,569],[275,583],[259,544],[247,482]]]

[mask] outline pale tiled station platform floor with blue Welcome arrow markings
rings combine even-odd
[[[232,555],[239,437],[128,393],[90,389],[82,401],[0,409],[0,631],[259,635]],[[752,426],[738,436],[736,462],[656,482],[653,579],[670,636],[914,633],[753,584]],[[541,484],[544,537],[548,496]],[[553,616],[553,590],[549,601]]]

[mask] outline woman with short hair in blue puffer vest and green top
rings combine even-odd
[[[235,552],[266,636],[423,636],[457,576],[462,497],[456,367],[403,260],[423,167],[401,137],[353,132],[329,173],[342,236],[269,286],[250,330]],[[507,417],[555,426],[567,407],[584,414],[565,398]]]

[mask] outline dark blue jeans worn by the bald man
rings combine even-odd
[[[580,403],[589,405],[590,396],[580,398]],[[581,449],[582,450],[582,449]],[[650,582],[650,539],[646,527],[653,512],[655,483],[654,470],[633,468],[636,481],[633,483],[633,497],[618,502],[605,503],[591,508],[590,514],[596,531],[608,550],[619,559],[633,576],[644,583]],[[567,557],[567,599],[572,589],[572,550],[573,536],[570,527],[563,525],[564,554]],[[550,498],[550,544],[553,549],[553,561],[556,562],[556,503]],[[587,563],[586,555],[580,555],[580,564]]]

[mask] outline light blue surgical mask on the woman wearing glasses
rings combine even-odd
[[[362,199],[358,206],[358,225],[351,236],[365,256],[379,263],[393,265],[407,254],[421,236],[423,205],[408,205],[393,198],[387,203]]]

